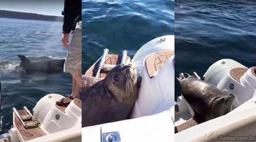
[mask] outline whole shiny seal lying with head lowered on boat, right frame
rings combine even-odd
[[[187,73],[180,73],[177,79],[180,82],[183,97],[204,121],[225,115],[233,110],[235,95],[226,95],[212,84]]]

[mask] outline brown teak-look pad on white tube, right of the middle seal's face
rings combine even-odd
[[[146,69],[152,78],[164,63],[174,55],[174,51],[159,51],[148,56],[146,59]]]

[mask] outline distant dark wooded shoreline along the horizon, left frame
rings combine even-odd
[[[0,10],[0,17],[1,18],[23,19],[23,20],[63,22],[62,16],[50,16],[50,15],[42,15],[42,14],[37,14],[37,13],[16,12],[16,11],[8,11],[8,10]]]

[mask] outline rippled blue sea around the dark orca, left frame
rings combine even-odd
[[[26,106],[32,111],[46,94],[69,95],[72,78],[69,73],[27,75],[15,69],[20,64],[18,54],[31,61],[65,58],[67,50],[60,42],[62,22],[0,18],[0,35],[0,133],[5,133],[12,126],[13,107],[18,110]]]

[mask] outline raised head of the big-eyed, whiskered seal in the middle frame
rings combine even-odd
[[[119,101],[124,102],[129,98],[137,99],[137,72],[132,64],[117,65],[103,80],[108,91]]]

